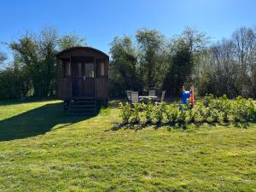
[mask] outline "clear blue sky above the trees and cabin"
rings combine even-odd
[[[255,0],[5,0],[0,6],[0,42],[55,26],[106,53],[115,36],[132,35],[141,27],[171,37],[193,26],[218,40],[237,27],[256,26]],[[3,44],[1,50],[9,53]]]

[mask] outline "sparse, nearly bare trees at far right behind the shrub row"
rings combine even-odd
[[[255,47],[255,32],[246,27],[210,46],[196,68],[200,95],[255,96]]]

